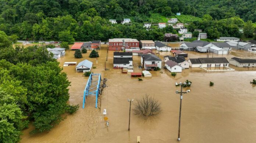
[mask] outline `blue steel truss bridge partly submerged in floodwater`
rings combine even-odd
[[[83,91],[83,108],[85,108],[86,98],[89,95],[95,96],[95,99],[96,99],[95,108],[97,108],[98,95],[100,90],[100,81],[101,81],[100,74],[90,74],[85,86],[85,90]]]

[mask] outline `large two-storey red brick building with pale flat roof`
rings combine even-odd
[[[131,38],[109,39],[109,50],[139,49],[139,41]]]

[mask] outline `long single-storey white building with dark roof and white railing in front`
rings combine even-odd
[[[228,67],[229,63],[225,57],[189,59],[190,67]]]

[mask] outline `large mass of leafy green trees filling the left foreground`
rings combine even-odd
[[[67,104],[70,82],[45,46],[13,48],[0,37],[0,142],[16,143],[29,121],[33,132],[49,131],[78,105]]]

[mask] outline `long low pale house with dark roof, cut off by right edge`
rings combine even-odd
[[[256,67],[256,59],[240,59],[237,57],[232,57],[230,59],[230,64],[237,67]]]

